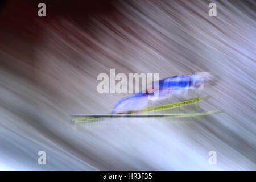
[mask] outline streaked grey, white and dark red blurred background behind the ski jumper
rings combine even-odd
[[[46,17],[38,3],[46,3]],[[217,5],[217,17],[208,5]],[[256,169],[255,1],[2,1],[0,169]],[[209,104],[187,119],[106,119],[125,94],[97,76],[210,71]],[[46,151],[46,165],[38,151]],[[217,164],[208,163],[216,151]]]

